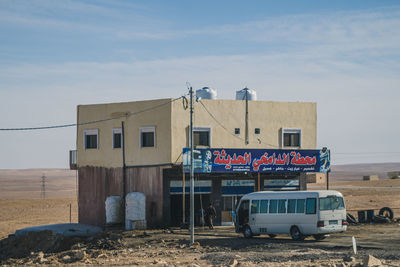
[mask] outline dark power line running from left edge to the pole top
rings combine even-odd
[[[0,131],[32,131],[32,130],[45,130],[45,129],[56,129],[56,128],[67,128],[67,127],[74,127],[74,126],[81,126],[81,125],[88,125],[88,124],[94,124],[94,123],[99,123],[99,122],[104,122],[104,121],[110,121],[110,120],[117,120],[117,119],[121,119],[124,117],[129,117],[132,115],[138,115],[140,113],[146,112],[146,111],[150,111],[162,106],[165,106],[169,103],[175,102],[178,99],[183,98],[183,96],[178,97],[178,98],[174,98],[172,100],[169,100],[168,102],[156,105],[156,106],[152,106],[143,110],[139,110],[136,112],[129,112],[126,113],[124,115],[118,116],[118,117],[113,117],[113,118],[106,118],[106,119],[100,119],[100,120],[95,120],[95,121],[88,121],[88,122],[81,122],[81,123],[71,123],[71,124],[61,124],[61,125],[52,125],[52,126],[39,126],[39,127],[21,127],[21,128],[0,128]]]

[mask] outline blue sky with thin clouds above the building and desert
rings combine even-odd
[[[333,164],[400,162],[399,1],[0,0],[0,128],[209,86],[317,103]],[[0,169],[68,168],[75,127],[0,131]]]

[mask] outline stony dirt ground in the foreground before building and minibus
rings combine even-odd
[[[353,255],[352,236],[357,242],[356,255]],[[41,238],[47,240],[43,243],[46,247],[38,246],[42,244]],[[245,239],[234,233],[233,227],[217,227],[212,231],[198,228],[194,246],[189,246],[188,230],[181,229],[145,233],[114,230],[95,238],[52,242],[49,247],[52,238],[36,235],[21,240],[2,240],[1,264],[358,266],[365,256],[372,255],[382,264],[400,265],[398,223],[350,226],[347,232],[318,242],[311,238],[292,241],[284,235],[274,239],[264,236]],[[27,244],[32,240],[36,242],[30,248]],[[14,246],[17,241],[20,251]],[[5,255],[5,252],[9,254]]]

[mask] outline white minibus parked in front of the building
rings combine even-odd
[[[334,190],[250,193],[236,208],[235,227],[246,238],[290,234],[294,240],[310,235],[322,240],[347,229],[343,195]]]

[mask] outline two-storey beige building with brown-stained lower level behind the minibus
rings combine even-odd
[[[79,221],[104,225],[107,196],[139,191],[147,197],[146,216],[150,226],[176,224],[174,218],[183,212],[182,196],[173,196],[171,188],[174,183],[182,182],[182,149],[189,147],[190,142],[187,103],[182,99],[158,99],[80,105],[77,117]],[[245,144],[245,125],[245,101],[195,102],[197,147],[316,149],[316,103],[249,101],[248,144]],[[200,199],[214,201],[218,212],[216,221],[221,223],[221,216],[226,217],[223,212],[232,210],[237,200],[221,196],[221,186],[226,181],[250,181],[254,190],[262,190],[266,179],[284,177],[299,181],[301,175],[262,174],[260,178],[251,173],[208,174],[198,175],[197,179],[211,188]],[[304,189],[304,184],[305,174],[300,188]],[[202,206],[204,203],[198,203],[200,199],[196,203]],[[178,204],[181,206],[172,211],[171,207]]]

